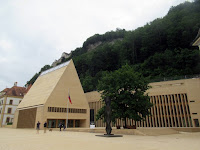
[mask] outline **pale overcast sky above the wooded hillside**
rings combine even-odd
[[[14,82],[24,86],[96,33],[134,30],[184,1],[0,0],[0,91]]]

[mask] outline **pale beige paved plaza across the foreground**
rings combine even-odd
[[[101,133],[0,128],[0,150],[199,150],[200,132],[105,138]]]

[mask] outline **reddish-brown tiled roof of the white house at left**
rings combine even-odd
[[[13,86],[12,88],[6,88],[3,90],[8,96],[24,96],[27,93],[27,89],[24,87]]]

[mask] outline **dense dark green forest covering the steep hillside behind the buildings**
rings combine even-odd
[[[185,2],[136,30],[95,34],[62,62],[73,59],[85,92],[96,90],[104,71],[114,71],[125,64],[151,81],[199,74],[200,53],[198,47],[192,47],[200,28],[199,10],[200,0]],[[101,44],[88,51],[88,46],[97,42]],[[40,72],[49,68],[46,65]],[[27,83],[34,83],[38,75]]]

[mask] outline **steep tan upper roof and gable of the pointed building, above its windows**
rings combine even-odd
[[[89,109],[72,60],[41,73],[17,109],[67,107],[69,95],[69,108]]]

